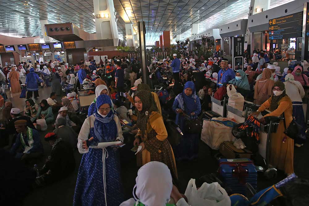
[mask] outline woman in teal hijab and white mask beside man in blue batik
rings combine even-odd
[[[250,85],[246,73],[239,69],[235,73],[235,78],[229,81],[230,84],[235,86],[237,92],[244,97],[250,94]]]

